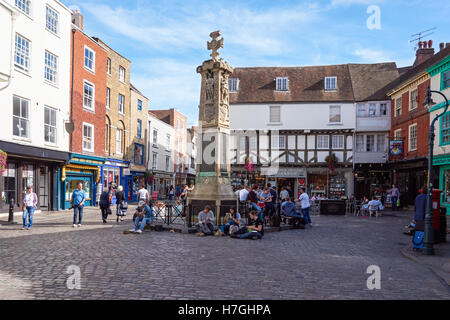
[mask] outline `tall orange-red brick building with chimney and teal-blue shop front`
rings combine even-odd
[[[72,14],[70,161],[62,171],[62,208],[78,182],[95,205],[102,190],[101,167],[105,156],[106,49],[83,32],[83,17]]]

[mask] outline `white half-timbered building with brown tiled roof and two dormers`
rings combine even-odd
[[[302,187],[337,199],[353,193],[347,65],[236,68],[229,92],[234,185],[271,183],[295,197]]]

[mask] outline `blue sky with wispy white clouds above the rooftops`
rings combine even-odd
[[[220,29],[221,57],[233,67],[394,61],[411,65],[411,35],[436,27],[434,47],[450,42],[447,0],[62,0],[84,16],[85,32],[132,61],[131,82],[150,109],[177,108],[197,122],[206,41]],[[369,30],[367,8],[380,8]],[[445,25],[447,24],[447,25]]]

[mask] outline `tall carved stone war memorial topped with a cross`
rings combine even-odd
[[[233,68],[219,58],[223,48],[221,32],[210,34],[210,60],[197,67],[201,75],[199,104],[199,148],[195,189],[188,196],[190,214],[196,215],[205,205],[211,206],[216,223],[225,207],[236,204],[230,184],[230,106],[228,78]],[[220,39],[219,39],[220,38]]]

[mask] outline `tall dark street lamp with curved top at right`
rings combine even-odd
[[[434,130],[435,130],[435,126],[434,124],[436,123],[436,121],[442,117],[448,109],[448,100],[447,97],[440,91],[434,91],[431,90],[430,87],[427,88],[427,97],[426,97],[426,101],[424,102],[424,106],[428,106],[429,108],[434,105],[433,99],[431,99],[431,94],[432,93],[437,93],[440,94],[441,96],[444,97],[444,101],[445,101],[445,108],[444,111],[440,114],[437,114],[433,121],[431,121],[431,125],[430,125],[430,133],[428,135],[428,148],[429,148],[429,152],[430,155],[428,157],[428,196],[427,196],[427,207],[426,207],[426,212],[425,212],[425,239],[424,239],[424,253],[426,255],[432,255],[434,254],[434,248],[433,248],[433,244],[434,244],[434,237],[433,237],[433,208],[432,208],[432,203],[433,203],[433,146],[434,146],[434,138],[435,138],[435,134],[434,134]]]

